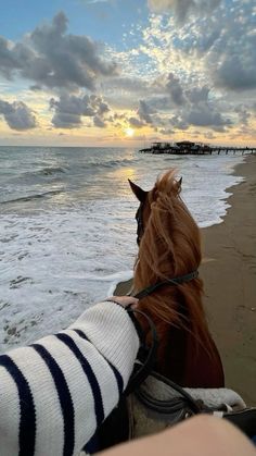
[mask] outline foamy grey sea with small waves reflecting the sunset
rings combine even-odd
[[[60,331],[132,276],[138,201],[170,168],[201,227],[221,223],[243,161],[132,148],[0,147],[0,352]]]

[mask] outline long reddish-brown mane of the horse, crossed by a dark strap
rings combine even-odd
[[[144,233],[135,268],[135,288],[196,271],[201,263],[200,230],[180,197],[181,186],[170,170],[158,177],[143,204]],[[158,326],[162,341],[169,325],[183,328],[210,352],[202,305],[203,282],[194,279],[164,286],[139,303]]]

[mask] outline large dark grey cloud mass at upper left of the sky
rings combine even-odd
[[[102,45],[66,32],[67,17],[60,12],[51,24],[36,27],[26,44],[13,45],[0,38],[0,73],[7,78],[20,75],[37,86],[69,90],[93,90],[98,77],[116,74],[116,64],[101,57]]]

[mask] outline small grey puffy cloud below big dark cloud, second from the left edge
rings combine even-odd
[[[97,126],[103,126],[103,116],[110,111],[110,107],[97,95],[85,95],[81,97],[62,94],[56,100],[51,98],[50,109],[54,110],[52,124],[56,128],[75,128],[81,125],[81,118],[94,118]]]

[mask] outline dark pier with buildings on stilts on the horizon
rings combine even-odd
[[[230,146],[208,146],[202,143],[180,141],[180,143],[153,143],[151,147],[140,149],[142,153],[168,153],[176,156],[212,156],[213,153],[255,153],[256,147],[230,147]]]

